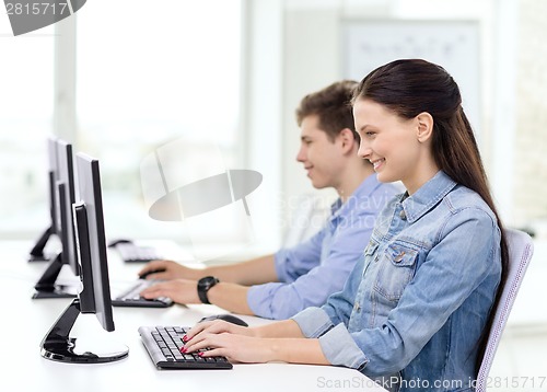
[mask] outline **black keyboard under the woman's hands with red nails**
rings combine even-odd
[[[232,369],[225,357],[202,358],[199,351],[182,354],[187,330],[182,326],[141,326],[139,334],[150,358],[160,369]]]

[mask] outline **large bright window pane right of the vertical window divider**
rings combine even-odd
[[[90,1],[77,32],[75,141],[101,161],[107,231],[181,241],[186,228],[148,217],[139,168],[170,145],[182,155],[219,147],[225,164],[202,157],[182,171],[234,168],[241,2]]]

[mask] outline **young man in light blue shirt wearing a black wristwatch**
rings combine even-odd
[[[213,303],[241,314],[288,319],[321,305],[339,291],[362,257],[379,211],[396,188],[376,180],[372,164],[359,158],[350,100],[354,81],[340,81],[304,96],[296,109],[301,147],[296,160],[316,188],[339,195],[322,230],[290,249],[252,261],[193,269],[154,261],[140,272],[167,279],[141,292],[179,303]]]

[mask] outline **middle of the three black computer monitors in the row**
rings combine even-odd
[[[75,238],[72,222],[72,205],[75,201],[74,170],[72,145],[62,140],[55,140],[57,169],[54,186],[54,224],[55,232],[61,239],[61,251],[49,261],[45,272],[34,286],[33,298],[73,298],[77,287],[73,285],[57,284],[57,277],[65,264],[72,273],[79,275],[75,255]]]

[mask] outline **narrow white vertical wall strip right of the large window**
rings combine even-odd
[[[282,3],[247,0],[243,43],[243,101],[241,151],[246,168],[263,174],[263,184],[248,197],[256,246],[275,251],[280,242],[278,214],[283,149],[280,129],[282,80]]]

